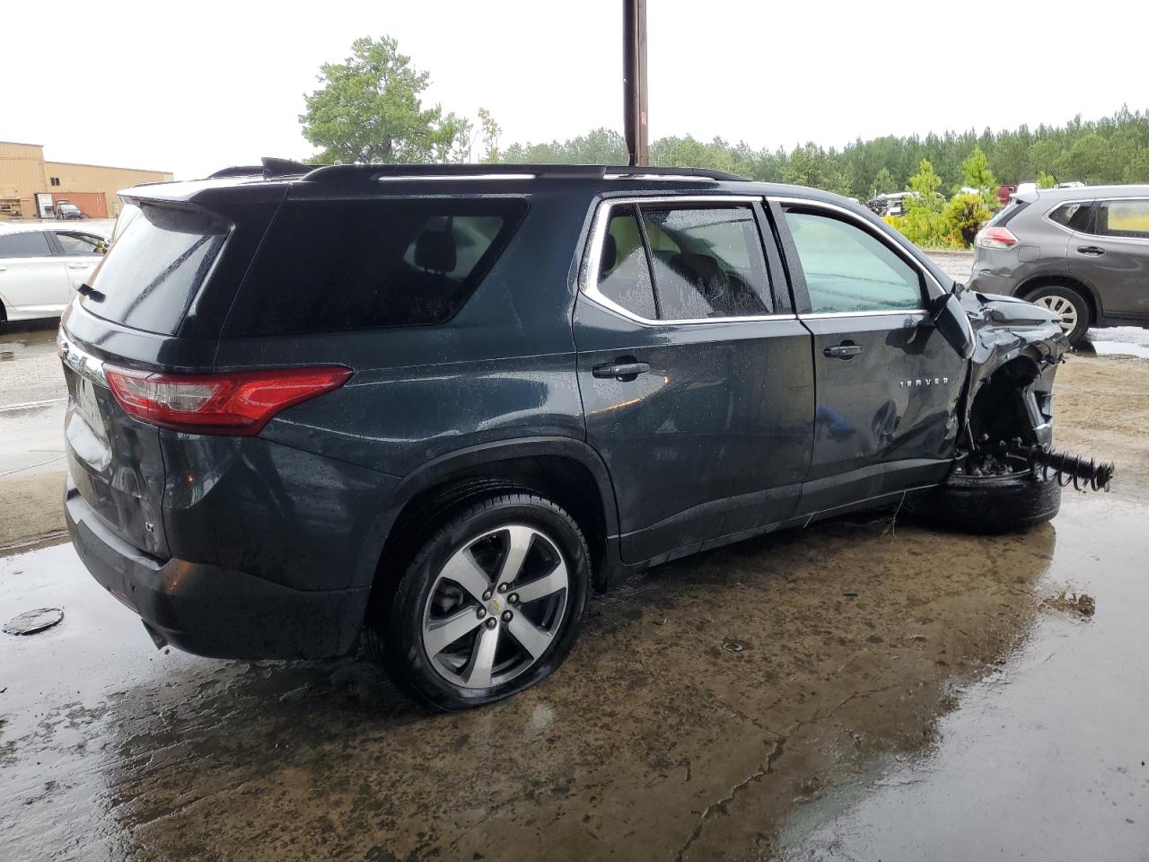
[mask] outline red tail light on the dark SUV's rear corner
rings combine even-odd
[[[160,428],[193,434],[253,437],[277,413],[339,388],[349,369],[340,365],[207,375],[134,371],[105,365],[124,411]]]

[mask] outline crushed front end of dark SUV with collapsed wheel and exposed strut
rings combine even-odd
[[[1055,316],[962,285],[946,301],[970,325],[962,432],[949,479],[910,497],[910,513],[938,525],[1004,532],[1056,515],[1063,487],[1108,491],[1112,464],[1052,448],[1054,377],[1069,351]]]

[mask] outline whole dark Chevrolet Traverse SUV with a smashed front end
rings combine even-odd
[[[549,675],[627,572],[876,505],[1059,505],[998,445],[1049,442],[1052,315],[827,192],[267,160],[122,198],[60,324],[64,508],[157,645],[362,637],[457,709]]]

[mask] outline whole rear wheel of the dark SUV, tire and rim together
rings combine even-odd
[[[591,583],[573,518],[530,492],[488,494],[448,515],[365,640],[392,679],[425,705],[463,709],[548,677],[578,634]]]

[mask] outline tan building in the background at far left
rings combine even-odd
[[[116,216],[121,208],[118,191],[171,178],[170,172],[162,170],[46,162],[44,147],[39,144],[0,141],[0,218],[9,217],[10,211],[17,209],[25,218],[36,218],[33,195],[37,192],[48,192],[54,198],[67,198],[69,192],[102,194],[106,213]]]

